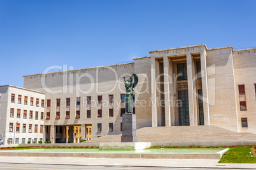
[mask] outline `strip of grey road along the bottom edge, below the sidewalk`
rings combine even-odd
[[[8,169],[8,170],[17,170],[17,169],[27,169],[27,170],[59,170],[59,169],[104,169],[104,170],[167,170],[167,169],[176,169],[176,170],[209,170],[209,168],[172,168],[172,167],[131,167],[131,166],[64,166],[64,165],[49,165],[49,164],[6,164],[0,163],[0,170]],[[224,170],[224,169],[218,169]],[[234,169],[235,170],[235,169]],[[238,170],[238,169],[236,169]]]

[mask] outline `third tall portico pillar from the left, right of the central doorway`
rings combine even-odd
[[[189,107],[189,124],[190,126],[194,126],[194,83],[193,83],[193,65],[194,59],[192,60],[192,56],[190,53],[187,53],[187,76],[188,76],[188,107]]]

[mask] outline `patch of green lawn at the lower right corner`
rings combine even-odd
[[[250,157],[250,147],[230,148],[218,163],[256,163],[256,157]]]

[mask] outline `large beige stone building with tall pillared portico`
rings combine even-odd
[[[201,44],[149,53],[132,63],[25,75],[24,88],[46,94],[45,138],[65,141],[65,126],[81,126],[81,138],[122,133],[123,77],[134,73],[137,128],[211,124],[255,133],[256,49]]]

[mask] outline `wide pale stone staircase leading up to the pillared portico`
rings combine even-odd
[[[94,138],[94,142],[120,142],[122,134]],[[139,142],[256,141],[256,134],[236,133],[218,126],[171,126],[137,129]]]

